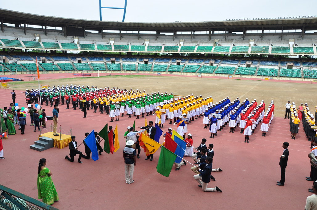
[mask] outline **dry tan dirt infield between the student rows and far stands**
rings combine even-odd
[[[274,100],[275,116],[283,117],[285,104],[288,100],[295,102],[296,106],[300,103],[308,103],[309,107],[314,109],[317,105],[316,84],[307,83],[286,83],[276,81],[254,81],[240,79],[217,79],[217,78],[199,78],[199,77],[165,77],[165,76],[103,76],[88,78],[62,78],[40,80],[41,84],[55,85],[84,85],[97,86],[103,88],[115,86],[130,90],[146,90],[146,93],[167,92],[174,95],[202,95],[203,97],[212,96],[214,102],[218,102],[229,96],[230,100],[239,97],[240,101],[249,98],[249,101],[256,99],[258,103],[264,100],[268,104]],[[37,81],[11,82],[10,89],[18,90],[36,89]]]

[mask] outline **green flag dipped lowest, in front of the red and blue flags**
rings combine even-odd
[[[164,146],[161,147],[161,153],[159,155],[159,162],[156,166],[157,171],[163,176],[170,176],[173,164],[176,160],[177,155],[166,149]]]

